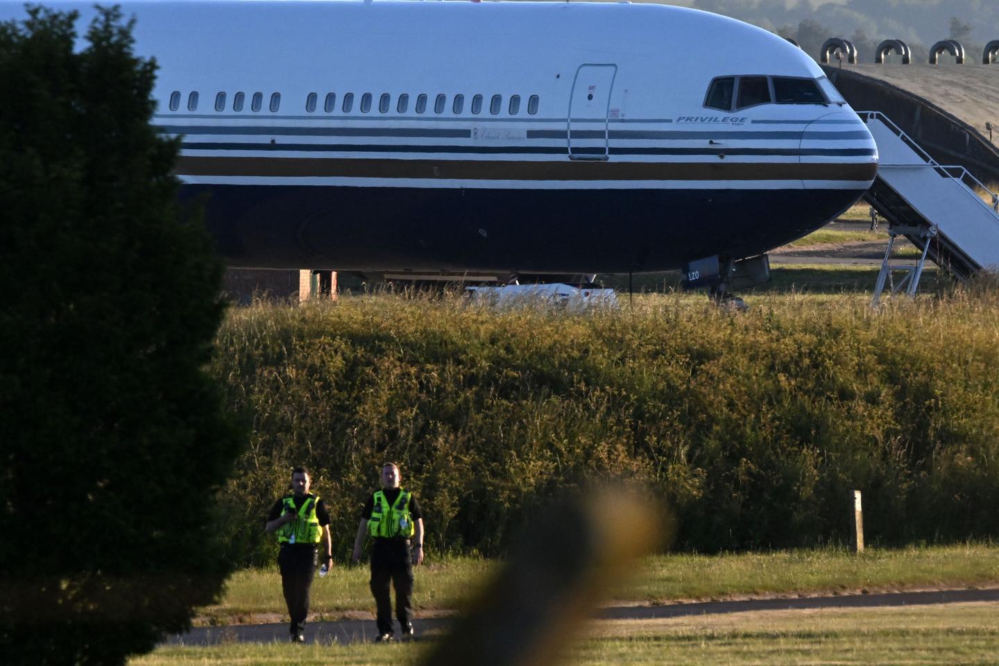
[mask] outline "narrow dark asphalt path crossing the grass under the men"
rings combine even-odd
[[[999,601],[999,588],[887,592],[878,594],[843,594],[836,596],[743,599],[675,603],[663,606],[611,606],[600,610],[602,620],[647,620],[692,615],[742,613],[763,610],[809,610],[817,608],[876,608],[923,606],[947,603]],[[448,617],[417,619],[416,638],[429,638],[448,627]],[[378,635],[374,620],[311,622],[306,625],[307,643],[348,645],[370,642]],[[221,645],[226,643],[286,643],[288,624],[235,624],[195,627],[185,634],[171,636],[162,645]]]

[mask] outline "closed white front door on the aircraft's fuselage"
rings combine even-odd
[[[617,65],[580,65],[568,105],[570,160],[606,160],[607,113]]]

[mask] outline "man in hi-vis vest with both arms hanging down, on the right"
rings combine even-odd
[[[365,537],[371,536],[374,541],[371,588],[378,605],[377,641],[391,641],[396,635],[390,582],[396,588],[396,618],[403,638],[413,636],[413,566],[424,561],[424,516],[413,493],[400,487],[401,481],[398,464],[382,465],[382,489],[368,495],[351,558],[358,563]]]

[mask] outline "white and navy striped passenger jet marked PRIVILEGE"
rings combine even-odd
[[[4,2],[0,15],[23,15]],[[77,9],[88,3],[57,2]],[[818,65],[655,4],[121,3],[230,267],[403,275],[680,269],[716,294],[870,187]],[[741,268],[741,271],[740,271]]]

